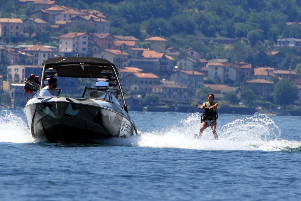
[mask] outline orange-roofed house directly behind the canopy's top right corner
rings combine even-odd
[[[95,52],[93,57],[103,58],[115,64],[117,68],[129,66],[129,54],[115,49],[104,49]]]

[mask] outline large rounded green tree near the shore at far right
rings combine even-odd
[[[297,86],[291,79],[282,79],[274,87],[274,101],[283,108],[293,104],[298,99],[297,94]]]

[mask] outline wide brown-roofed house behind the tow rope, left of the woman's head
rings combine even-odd
[[[187,100],[188,88],[176,83],[162,83],[154,86],[153,93],[159,95],[159,99]]]

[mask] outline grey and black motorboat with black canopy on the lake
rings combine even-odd
[[[63,97],[64,89],[60,88],[46,89],[45,93],[43,88],[52,77],[58,82],[60,77],[92,79],[95,86],[86,86],[81,97]],[[103,139],[137,134],[118,71],[113,63],[102,58],[77,56],[46,60],[40,90],[28,100],[24,113],[37,142],[102,143]]]

